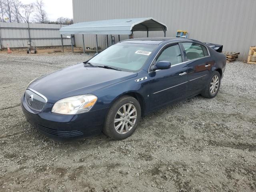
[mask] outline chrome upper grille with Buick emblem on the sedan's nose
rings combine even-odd
[[[25,99],[26,99],[26,103],[28,104],[28,106],[32,110],[37,111],[37,112],[42,111],[46,104],[46,100],[42,96],[40,96],[28,89],[25,92]]]

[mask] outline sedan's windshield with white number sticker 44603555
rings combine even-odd
[[[157,45],[118,43],[110,46],[88,62],[124,71],[137,71],[145,64]]]

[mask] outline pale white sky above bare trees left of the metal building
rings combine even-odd
[[[20,0],[23,4],[36,0]],[[73,18],[72,0],[43,0],[48,20],[56,21],[59,17]]]

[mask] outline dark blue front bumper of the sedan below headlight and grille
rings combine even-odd
[[[44,135],[57,141],[90,137],[102,132],[108,108],[76,115],[61,115],[51,112],[53,104],[46,103],[42,112],[28,107],[25,97],[21,99],[22,111],[30,124]]]

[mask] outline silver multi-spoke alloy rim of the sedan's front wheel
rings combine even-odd
[[[119,134],[126,134],[129,132],[137,119],[137,110],[133,104],[124,104],[116,112],[114,119],[114,128]]]

